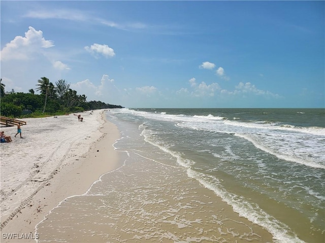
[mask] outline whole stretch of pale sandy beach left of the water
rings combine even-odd
[[[120,134],[104,110],[22,119],[2,127],[13,142],[1,144],[1,242],[35,242],[35,226],[60,201],[83,194],[119,166],[113,144]],[[107,163],[108,161],[108,163]]]

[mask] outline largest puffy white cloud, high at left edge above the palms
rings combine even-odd
[[[53,47],[52,41],[47,41],[43,37],[41,30],[28,27],[25,37],[16,36],[1,51],[1,60],[28,60],[36,53],[43,54],[45,48]],[[44,55],[44,54],[43,54]]]

